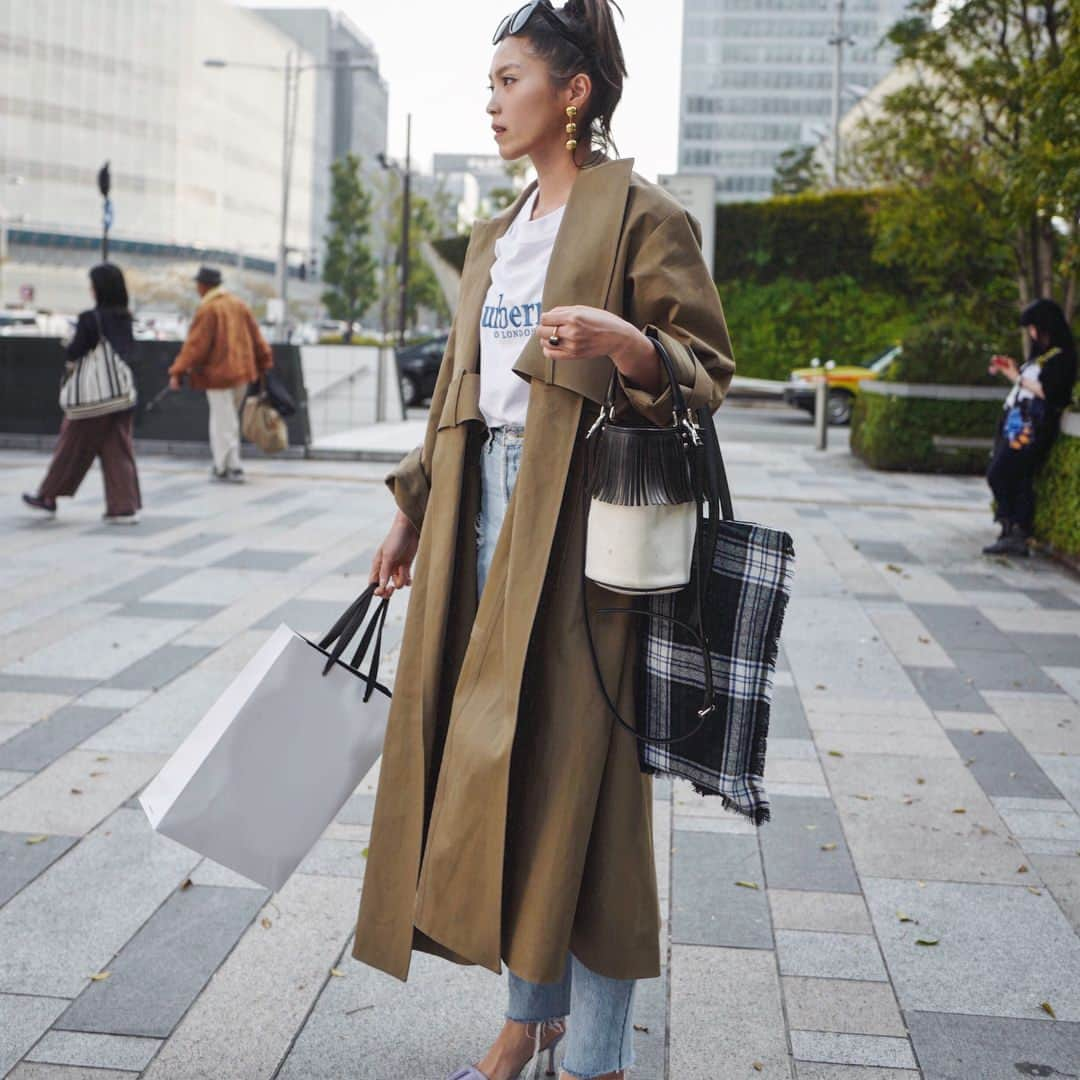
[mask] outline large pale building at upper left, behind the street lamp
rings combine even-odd
[[[9,224],[276,257],[284,79],[295,43],[226,0],[0,0],[0,188]],[[288,243],[311,235],[314,87],[301,81]]]

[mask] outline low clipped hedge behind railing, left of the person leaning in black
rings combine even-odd
[[[985,449],[937,449],[934,435],[990,437],[1001,403],[931,401],[859,394],[851,418],[851,449],[873,469],[977,474]]]

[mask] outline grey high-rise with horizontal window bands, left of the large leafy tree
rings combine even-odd
[[[906,0],[848,0],[841,90],[892,66],[881,44]],[[684,0],[680,173],[716,177],[717,199],[766,199],[779,154],[831,123],[834,0]],[[853,103],[845,91],[841,112]]]

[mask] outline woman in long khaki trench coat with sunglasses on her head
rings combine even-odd
[[[402,980],[413,949],[496,973],[505,962],[507,1023],[462,1080],[516,1077],[564,1032],[564,1076],[621,1077],[635,981],[660,974],[660,914],[651,779],[605,706],[584,636],[584,437],[612,365],[624,420],[671,421],[646,329],[691,408],[720,404],[734,364],[697,222],[632,160],[594,149],[625,73],[609,0],[527,4],[496,42],[495,137],[538,180],[473,228],[423,446],[388,477],[399,511],[372,580],[379,595],[411,596],[353,955]],[[556,213],[542,302],[511,312],[532,326],[511,377],[482,326],[492,274],[515,269],[496,265],[508,249],[496,245],[542,233]],[[489,430],[482,402],[496,384],[521,387],[524,423]],[[496,448],[509,462],[511,444],[500,522],[482,462]],[[497,537],[494,553],[478,536]],[[627,603],[592,584],[588,596]],[[632,622],[594,620],[624,717]]]

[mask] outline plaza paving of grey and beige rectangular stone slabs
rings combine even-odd
[[[667,963],[635,1080],[1077,1076],[1080,585],[977,554],[977,480],[740,424],[737,509],[798,552],[773,820],[657,785]],[[133,801],[281,620],[322,631],[362,588],[381,468],[261,463],[227,488],[149,459],[145,521],[116,529],[96,477],[55,523],[22,514],[42,467],[0,456],[0,1076],[441,1080],[475,1059],[500,980],[421,957],[402,986],[348,957],[374,775],[273,896]]]

